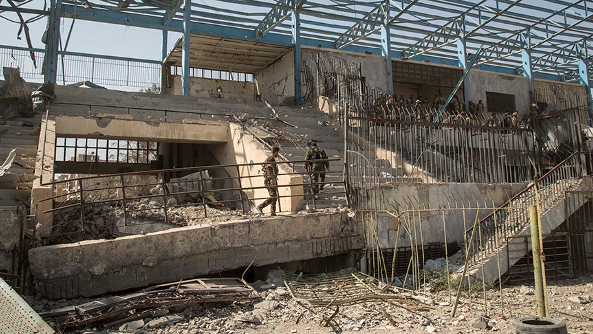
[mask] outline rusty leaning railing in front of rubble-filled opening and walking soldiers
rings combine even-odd
[[[319,161],[331,162],[339,160],[324,159]],[[276,165],[304,165],[305,162],[307,160],[280,161],[276,162]],[[201,206],[203,217],[208,218],[208,207],[218,207],[224,210],[240,210],[240,214],[244,215],[250,212],[251,203],[260,204],[269,198],[267,192],[265,197],[255,197],[255,195],[248,197],[246,195],[246,191],[266,191],[267,187],[264,185],[263,175],[258,172],[261,168],[262,163],[243,163],[69,178],[44,183],[44,186],[51,185],[53,187],[53,196],[43,198],[40,202],[53,201],[53,209],[44,211],[44,213],[50,213],[52,218],[65,210],[77,210],[79,217],[76,219],[76,229],[79,230],[84,230],[87,225],[103,224],[98,223],[97,219],[88,218],[94,210],[100,211],[103,206],[117,207],[117,215],[120,215],[119,218],[123,220],[123,226],[126,226],[129,219],[137,212],[144,212],[149,218],[158,222],[187,225],[183,222],[172,222],[170,219],[171,210]],[[311,174],[308,174],[307,179],[311,180],[309,182],[283,183],[282,181],[286,180],[286,177],[305,176],[304,173],[295,172],[292,168],[286,168],[285,170],[289,172],[280,172],[278,175],[279,201],[276,212],[279,213],[290,211],[286,208],[283,210],[280,206],[282,198],[311,197],[313,207],[316,209],[313,192],[305,195],[301,191],[295,191],[294,194],[292,192],[287,193],[287,187],[308,188],[313,187],[315,184],[343,184],[344,182],[343,179],[337,182],[332,179],[332,181],[328,182],[314,183]],[[329,170],[325,173],[326,175],[342,175],[342,171]],[[179,174],[185,176],[172,178]],[[209,174],[212,174],[212,177],[209,177]],[[262,194],[262,192],[259,194]],[[326,192],[324,196],[345,197],[346,194],[345,191],[334,191]],[[72,217],[72,215],[69,217]],[[60,229],[60,226],[71,223],[72,220],[54,222],[54,231],[52,231],[51,235],[68,233],[65,232],[65,229]],[[72,231],[72,229],[66,230],[72,233],[80,232]]]

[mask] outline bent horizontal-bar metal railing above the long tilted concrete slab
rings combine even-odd
[[[327,159],[321,161],[337,161]],[[306,160],[291,161],[291,165],[304,165]],[[276,162],[287,165],[288,162]],[[266,194],[269,187],[264,185],[262,175],[251,174],[259,171],[261,163],[235,165],[213,165],[192,168],[161,169],[145,172],[100,175],[94,177],[70,178],[48,182],[54,195],[43,198],[53,201],[53,209],[44,213],[52,216],[53,229],[46,244],[89,240],[92,238],[113,238],[120,234],[152,231],[155,225],[165,224],[160,229],[188,225],[188,220],[220,216],[229,213],[228,218],[246,215],[251,212],[253,203],[260,204],[269,198],[248,198],[247,192]],[[290,169],[289,169],[290,170]],[[326,174],[341,174],[342,171],[326,171]],[[185,175],[180,178],[172,176]],[[299,172],[285,172],[283,176],[305,175]],[[313,187],[309,182],[282,184],[276,187],[279,200],[282,198],[303,197],[301,191],[294,194],[292,187]],[[330,182],[317,182],[319,184]],[[331,183],[336,183],[331,181]],[[340,182],[338,182],[340,183]],[[343,181],[342,181],[343,183]],[[255,184],[255,185],[254,185]],[[259,193],[255,191],[259,190]],[[343,191],[326,193],[327,196],[345,196]],[[261,196],[261,195],[260,195]],[[315,198],[313,201],[315,209]],[[278,201],[276,212],[290,212]],[[191,208],[186,212],[184,208]],[[152,225],[152,226],[151,226]],[[117,231],[116,231],[117,230]],[[129,231],[129,232],[126,232]],[[93,237],[94,236],[94,237]]]

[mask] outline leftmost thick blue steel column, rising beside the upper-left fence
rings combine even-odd
[[[60,18],[62,0],[50,2],[49,21],[47,22],[47,41],[45,47],[45,75],[43,81],[58,81],[58,51],[60,48]]]

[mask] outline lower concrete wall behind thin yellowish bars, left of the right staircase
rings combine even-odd
[[[417,182],[392,182],[382,185],[382,194],[386,198],[385,201],[396,208],[398,206],[406,206],[406,203],[410,203],[409,208],[400,207],[397,209],[397,213],[403,212],[406,209],[417,210],[418,206],[434,209],[423,211],[420,214],[404,215],[400,218],[403,221],[408,221],[407,219],[409,218],[414,219],[416,223],[416,240],[419,244],[420,235],[422,235],[422,241],[426,245],[431,242],[445,242],[444,226],[447,229],[447,242],[463,241],[463,232],[465,229],[473,226],[476,219],[477,210],[466,210],[464,213],[461,209],[438,209],[454,208],[456,202],[458,202],[457,207],[459,208],[499,207],[526,186],[526,184],[426,184]],[[484,203],[484,200],[486,203]],[[374,198],[371,198],[369,202],[374,203]],[[491,211],[487,209],[480,210],[480,217],[486,216]],[[443,212],[445,213],[444,217]],[[443,224],[443,218],[445,219],[445,225]],[[377,219],[377,231],[381,247],[395,247],[397,226],[397,219],[392,218],[387,213],[379,215]],[[410,224],[410,226],[413,226],[413,224]],[[409,245],[410,235],[402,229],[400,231],[398,247],[407,247]]]

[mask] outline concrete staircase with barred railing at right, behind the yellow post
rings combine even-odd
[[[562,171],[564,169],[564,171]],[[570,169],[571,171],[566,173]],[[570,177],[574,175],[575,166],[559,168],[559,174],[549,175],[540,179],[540,216],[541,234],[550,234],[560,224],[572,215],[582,203],[566,204],[566,192],[568,191],[591,191],[593,182],[590,177]],[[470,276],[484,280],[486,283],[495,282],[499,276],[505,273],[528,251],[531,251],[531,243],[528,247],[524,244],[512,242],[517,237],[528,237],[530,235],[530,219],[528,207],[535,205],[535,187],[530,184],[524,191],[508,201],[505,205],[486,218],[480,220],[480,229],[476,231],[475,241],[470,252]],[[471,232],[468,232],[468,239]],[[481,238],[480,238],[481,234]]]

